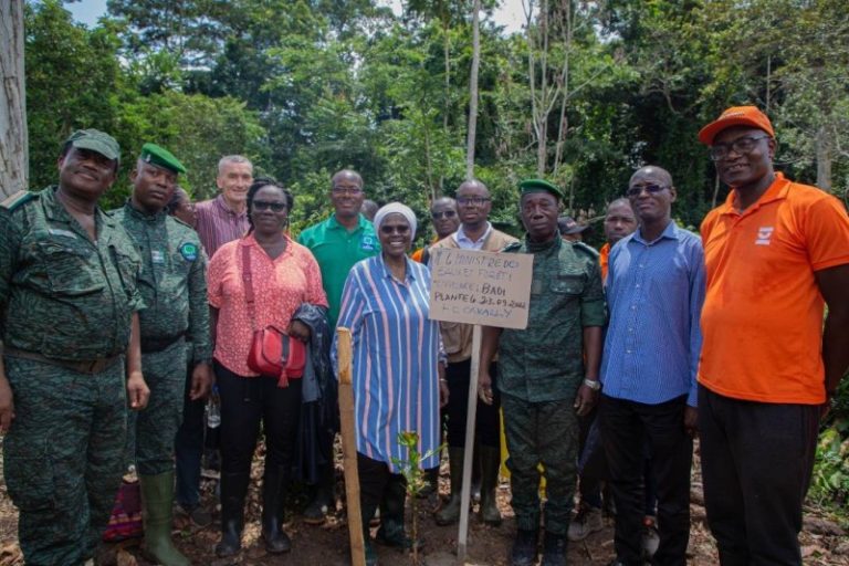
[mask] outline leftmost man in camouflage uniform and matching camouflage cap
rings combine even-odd
[[[119,155],[111,136],[76,132],[57,187],[0,205],[0,431],[9,431],[6,483],[32,566],[94,555],[124,472],[127,398],[133,409],[147,403],[140,261],[97,208]]]

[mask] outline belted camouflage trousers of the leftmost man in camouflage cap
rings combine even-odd
[[[94,555],[124,473],[123,358],[97,374],[4,356],[17,415],[3,441],[6,484],[20,510],[28,566]]]

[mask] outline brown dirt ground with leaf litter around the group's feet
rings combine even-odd
[[[1,443],[1,442],[0,442]],[[696,450],[698,460],[698,450]],[[704,507],[702,506],[701,479],[698,474],[698,462],[694,465],[691,490],[691,532],[688,563],[692,565],[717,564],[716,548],[706,528]],[[0,458],[0,471],[2,459]],[[292,552],[282,556],[268,555],[260,541],[260,494],[259,484],[262,467],[259,459],[254,462],[254,482],[251,486],[248,504],[248,524],[243,538],[243,551],[235,558],[220,559],[214,556],[213,547],[218,542],[218,507],[213,478],[205,478],[202,482],[203,502],[208,509],[214,510],[216,523],[207,528],[192,528],[185,518],[175,523],[175,539],[179,548],[196,565],[226,566],[238,564],[244,566],[259,565],[310,565],[310,566],[346,566],[350,564],[348,556],[348,532],[345,513],[342,509],[344,500],[344,482],[342,471],[338,472],[337,495],[338,509],[331,514],[323,526],[305,524],[298,510],[303,509],[304,497],[293,494],[292,509],[285,524],[285,531],[292,537]],[[442,496],[448,493],[448,467],[442,464],[440,479]],[[465,565],[507,565],[507,553],[512,537],[515,534],[515,521],[510,509],[510,484],[502,479],[499,488],[499,505],[505,521],[501,527],[485,526],[478,521],[476,514],[470,515],[469,538],[467,544]],[[458,527],[437,526],[432,518],[434,502],[418,500],[418,516],[420,537],[424,541],[422,564],[428,566],[448,566],[459,564],[455,559]],[[408,502],[408,513],[409,513]],[[475,509],[476,511],[476,509]],[[18,513],[6,493],[6,484],[0,481],[0,566],[20,566],[23,559],[17,544]],[[410,522],[408,521],[408,525]],[[614,557],[612,520],[605,520],[605,528],[595,533],[580,543],[570,543],[569,564],[601,566]],[[374,531],[373,531],[374,534]],[[810,507],[806,510],[805,530],[800,535],[804,562],[806,565],[849,566],[849,537],[840,530],[822,510]],[[380,564],[384,566],[400,566],[412,564],[411,556],[391,548],[377,546]],[[148,566],[139,552],[138,541],[109,545],[101,553],[101,563],[117,564],[118,566]]]

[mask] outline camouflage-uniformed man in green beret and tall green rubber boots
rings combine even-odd
[[[206,261],[197,232],[166,207],[186,168],[155,144],[145,144],[130,174],[133,196],[115,218],[142,256],[138,289],[142,368],[150,405],[136,419],[135,461],[142,483],[145,549],[165,566],[188,565],[171,542],[174,438],[182,418],[188,339],[192,346],[192,399],[209,392],[211,380]]]

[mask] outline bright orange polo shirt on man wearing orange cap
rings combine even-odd
[[[708,290],[699,381],[762,402],[825,402],[824,300],[815,272],[849,263],[832,196],[782,174],[738,212],[735,192],[702,222]]]

